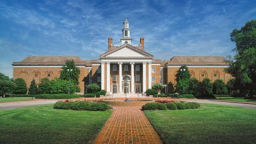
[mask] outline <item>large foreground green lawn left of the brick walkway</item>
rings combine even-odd
[[[0,143],[93,143],[110,115],[53,105],[0,110]]]

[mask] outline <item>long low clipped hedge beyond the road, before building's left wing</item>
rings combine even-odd
[[[73,99],[83,97],[82,94],[37,94],[37,99]]]

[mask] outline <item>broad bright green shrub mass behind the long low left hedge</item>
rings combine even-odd
[[[68,87],[69,87],[69,93],[75,93],[79,92],[80,88],[74,83],[60,79],[60,78],[54,78],[49,82],[50,86],[50,93],[68,93]]]

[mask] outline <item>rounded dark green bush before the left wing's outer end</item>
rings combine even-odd
[[[27,84],[23,78],[17,78],[14,80],[14,94],[26,94],[27,93]]]

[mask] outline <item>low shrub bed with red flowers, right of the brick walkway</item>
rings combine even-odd
[[[197,102],[180,102],[169,100],[156,100],[155,102],[146,103],[142,106],[142,110],[175,110],[175,109],[194,109],[199,108],[200,104]]]

